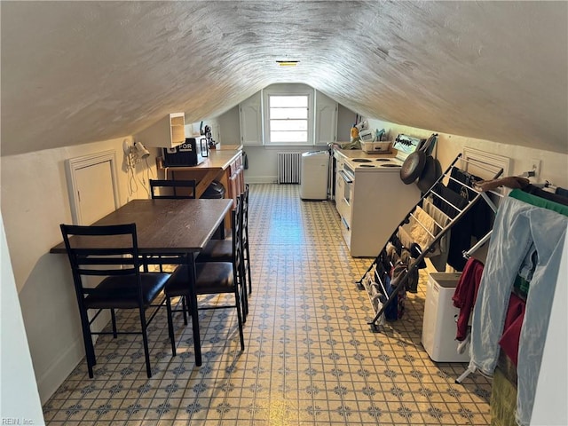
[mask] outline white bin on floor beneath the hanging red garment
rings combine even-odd
[[[426,286],[422,345],[433,361],[468,362],[469,343],[458,353],[456,319],[460,310],[454,307],[452,296],[460,280],[458,273],[430,273]]]

